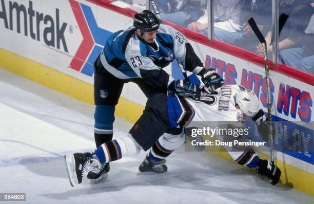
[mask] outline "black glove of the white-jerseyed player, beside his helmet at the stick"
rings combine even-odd
[[[252,117],[252,120],[257,124],[258,132],[261,135],[262,139],[265,141],[269,140],[269,132],[270,132],[270,125],[268,122],[268,118],[266,118],[266,115],[264,114],[263,110],[260,109],[259,112]],[[274,125],[272,125],[272,137],[276,135],[276,131],[274,128]]]

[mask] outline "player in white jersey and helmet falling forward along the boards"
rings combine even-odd
[[[251,117],[257,123],[261,134],[268,131],[266,117],[263,110],[259,109],[258,99],[253,91],[245,90],[238,85],[228,85],[216,90],[215,95],[210,95],[203,87],[200,100],[178,96],[184,95],[184,92],[182,89],[181,94],[169,92],[168,95],[156,94],[149,98],[143,115],[127,137],[105,142],[93,153],[66,155],[71,185],[75,186],[82,182],[85,167],[91,161],[107,163],[122,157],[134,156],[141,149],[144,151],[150,149],[140,165],[141,172],[166,172],[165,158],[184,143],[185,136],[183,133],[174,136],[165,132],[170,127],[188,127],[192,124],[191,121],[209,121],[213,120],[213,117],[237,121],[239,116]],[[273,163],[260,159],[252,150],[246,149],[231,156],[239,164],[257,169],[257,172],[268,177],[272,184],[276,184],[280,179],[280,169]]]

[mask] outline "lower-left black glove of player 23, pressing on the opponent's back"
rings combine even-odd
[[[200,100],[201,98],[201,89],[185,80],[172,81],[168,89],[174,91],[178,96],[191,96],[195,100]]]

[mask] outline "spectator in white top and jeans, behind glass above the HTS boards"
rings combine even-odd
[[[244,40],[243,28],[251,14],[252,0],[214,0],[214,39],[238,44]],[[207,11],[188,28],[207,35]]]

